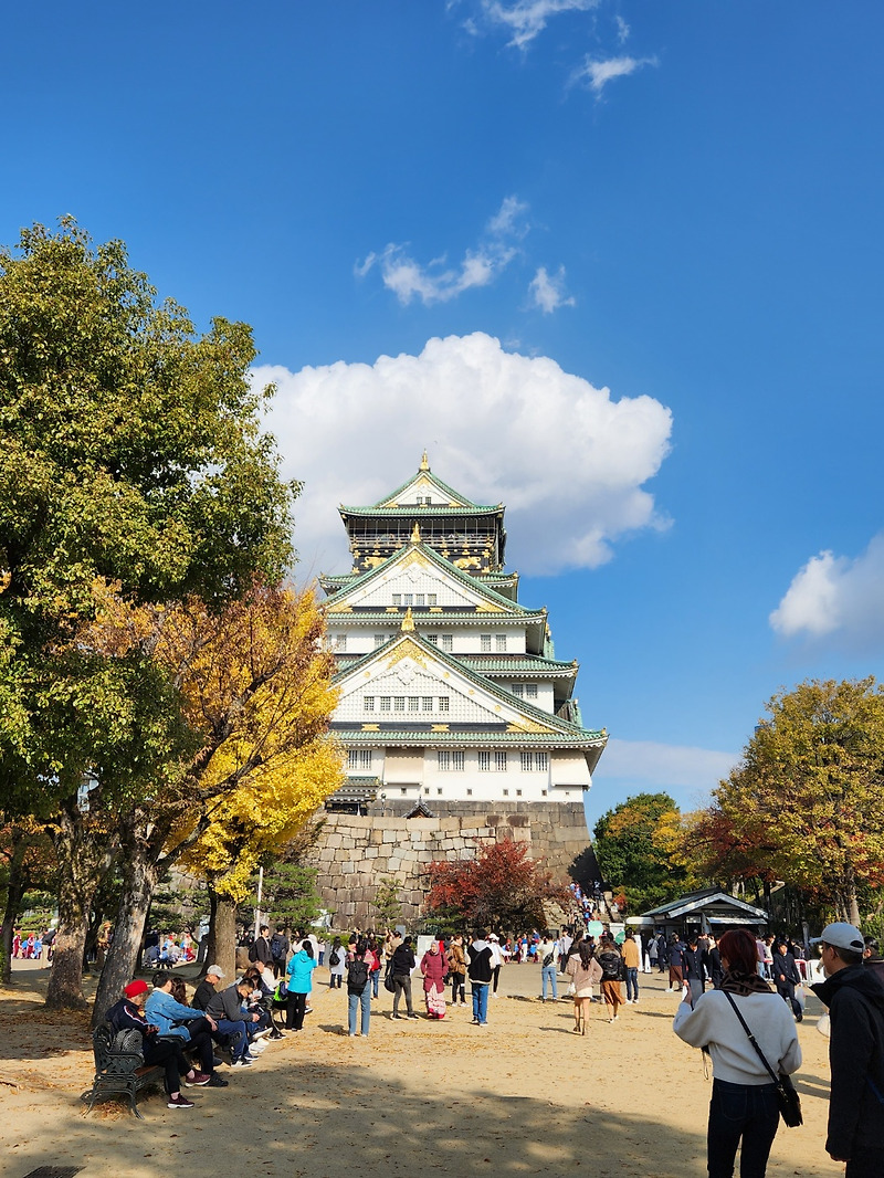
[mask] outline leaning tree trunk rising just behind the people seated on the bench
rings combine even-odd
[[[92,1026],[98,1026],[105,1012],[131,981],[138,964],[144,928],[150,912],[159,868],[156,851],[137,818],[127,820],[123,835],[123,892],[113,926],[113,939],[98,980]]]

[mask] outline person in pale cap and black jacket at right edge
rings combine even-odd
[[[846,1162],[845,1178],[884,1174],[884,986],[863,967],[863,934],[826,925],[818,944],[825,981],[811,988],[829,1007],[831,1031],[826,1152]]]

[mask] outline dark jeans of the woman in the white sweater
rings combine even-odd
[[[778,1125],[774,1084],[713,1080],[707,1137],[710,1178],[732,1178],[738,1146],[740,1178],[764,1178]]]

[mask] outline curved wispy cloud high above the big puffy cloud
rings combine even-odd
[[[448,303],[474,286],[488,286],[517,253],[515,243],[528,233],[528,205],[517,197],[506,197],[488,221],[475,250],[467,250],[463,260],[451,267],[446,258],[435,258],[425,266],[405,252],[404,245],[390,244],[380,253],[369,253],[354,267],[364,278],[374,266],[381,270],[384,286],[403,306],[418,298],[424,306]]]

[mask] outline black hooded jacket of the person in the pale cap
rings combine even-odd
[[[852,965],[811,990],[832,1024],[826,1150],[842,1159],[855,1150],[880,1151],[884,1159],[884,986],[870,969]]]

